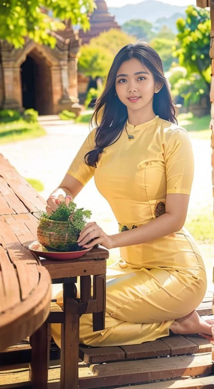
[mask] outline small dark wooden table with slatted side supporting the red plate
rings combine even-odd
[[[79,318],[82,314],[92,313],[94,331],[104,329],[105,272],[108,257],[108,250],[96,248],[76,260],[41,260],[52,282],[63,283],[64,310],[50,312],[47,322],[31,336],[30,380],[34,389],[47,389],[49,351],[47,323],[62,323],[60,388],[78,388]],[[91,276],[93,276],[92,296]],[[77,277],[80,277],[79,298],[76,298]]]

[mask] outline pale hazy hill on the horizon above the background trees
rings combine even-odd
[[[157,19],[171,18],[174,14],[178,17],[185,15],[186,7],[172,6],[157,0],[144,0],[138,4],[127,4],[116,8],[110,7],[109,12],[116,17],[116,21],[122,25],[130,19],[144,19],[155,24]],[[166,23],[168,25],[168,23]]]

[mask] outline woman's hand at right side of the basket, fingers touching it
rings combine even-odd
[[[87,242],[91,239],[93,239],[93,241],[87,244]],[[111,235],[106,235],[102,228],[100,228],[95,222],[86,224],[80,232],[77,243],[79,246],[85,247],[86,249],[98,244],[104,246],[106,249],[113,248],[113,239]]]

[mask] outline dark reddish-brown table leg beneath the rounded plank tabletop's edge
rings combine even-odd
[[[32,382],[33,389],[47,389],[50,339],[49,323],[42,324],[30,337],[32,351],[29,378]]]

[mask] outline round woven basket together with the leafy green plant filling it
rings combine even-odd
[[[41,212],[37,229],[38,241],[45,247],[60,251],[80,250],[77,240],[91,211],[77,208],[70,202],[61,203],[55,212]]]

